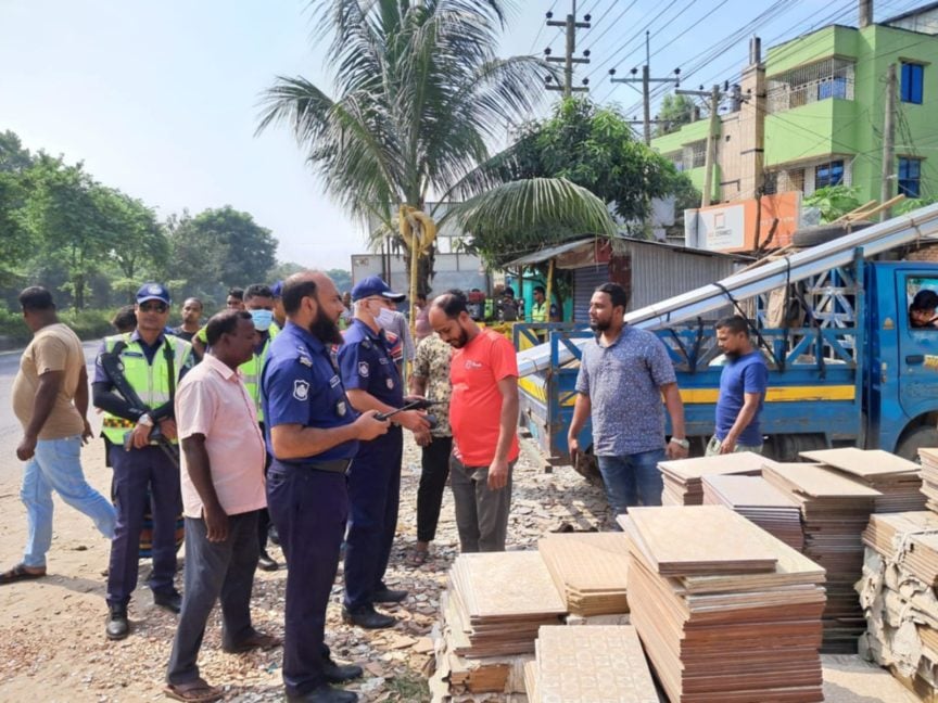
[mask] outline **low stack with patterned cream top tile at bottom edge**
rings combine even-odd
[[[530,703],[658,703],[642,642],[628,625],[542,627],[524,666]]]

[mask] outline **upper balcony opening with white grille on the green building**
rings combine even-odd
[[[766,80],[766,111],[784,112],[828,98],[853,100],[853,62],[823,59]]]

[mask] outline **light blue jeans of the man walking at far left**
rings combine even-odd
[[[41,568],[52,545],[52,490],[67,504],[88,515],[107,539],[114,537],[114,506],[85,481],[81,438],[39,439],[26,462],[20,498],[26,506],[28,534],[23,563]]]

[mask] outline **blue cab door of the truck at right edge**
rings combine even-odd
[[[886,407],[887,400],[884,398],[882,435],[885,448],[895,446],[899,433],[910,421],[938,407],[938,325],[918,327],[909,311],[912,299],[920,291],[938,293],[938,267],[902,266],[895,271],[898,344],[892,363],[899,370],[899,407]],[[888,356],[884,349],[884,360]]]

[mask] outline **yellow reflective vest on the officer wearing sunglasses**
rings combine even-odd
[[[174,387],[179,386],[179,372],[189,362],[192,345],[177,336],[167,334],[163,344],[153,357],[153,363],[147,362],[143,347],[137,340],[130,338],[130,333],[115,334],[104,340],[104,348],[111,353],[114,346],[123,342],[126,346],[121,350],[121,362],[124,365],[124,378],[137,392],[148,408],[154,409],[169,401],[169,368],[166,363],[166,348],[173,353]],[[116,445],[124,444],[124,435],[137,423],[132,420],[118,418],[104,412],[102,434]]]

